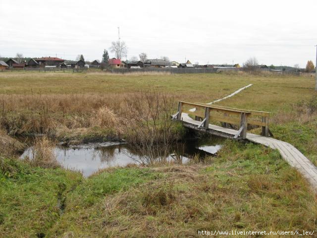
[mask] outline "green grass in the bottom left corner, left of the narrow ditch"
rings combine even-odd
[[[1,158],[0,158],[1,159]],[[64,197],[82,176],[64,169],[32,168],[15,159],[1,159],[1,237],[46,234],[60,217]]]

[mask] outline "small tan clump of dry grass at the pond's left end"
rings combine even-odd
[[[53,152],[53,143],[47,136],[41,136],[35,139],[30,163],[43,168],[59,167]]]

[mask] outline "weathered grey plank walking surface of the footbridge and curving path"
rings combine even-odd
[[[187,113],[182,113],[181,119],[183,125],[190,128],[195,129],[199,124],[201,124],[201,121],[191,119]],[[211,134],[220,135],[228,138],[232,138],[233,135],[237,133],[237,131],[234,129],[224,128],[213,124],[209,124],[208,129],[198,130],[205,130],[206,132],[209,132]],[[284,141],[276,140],[272,137],[265,137],[252,133],[247,133],[246,139],[254,143],[263,144],[272,149],[277,149],[282,158],[287,161],[290,166],[296,168],[304,176],[304,178],[306,178],[310,182],[315,193],[317,193],[317,168],[293,145]]]

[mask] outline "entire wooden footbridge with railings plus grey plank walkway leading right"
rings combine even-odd
[[[269,137],[272,136],[269,130],[269,115],[268,112],[179,102],[178,112],[172,119],[181,121],[185,127],[197,131],[231,139],[246,139],[277,149],[282,158],[302,173],[317,192],[317,168],[291,144]],[[261,126],[262,135],[247,133],[248,125]]]

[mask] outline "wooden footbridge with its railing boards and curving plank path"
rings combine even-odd
[[[183,110],[183,105],[188,105],[188,106],[195,106],[195,108],[193,109],[189,109],[189,110]],[[265,133],[266,136],[262,136],[262,135],[257,135],[257,134],[252,134],[252,133],[247,133],[247,127],[245,126],[245,124],[249,124],[248,121],[245,121],[244,118],[246,117],[246,115],[243,115],[244,113],[248,112],[247,110],[243,110],[240,111],[241,113],[241,119],[240,119],[240,124],[241,127],[239,130],[235,130],[232,128],[226,128],[226,127],[222,127],[222,126],[218,126],[218,125],[214,125],[214,124],[210,124],[209,123],[209,119],[212,118],[210,113],[212,113],[212,110],[217,110],[217,112],[225,112],[226,116],[228,117],[228,112],[230,111],[229,108],[225,108],[224,111],[222,112],[222,109],[219,108],[218,106],[207,106],[206,104],[191,104],[191,103],[184,103],[184,102],[180,102],[179,108],[178,108],[178,113],[176,113],[173,116],[173,119],[175,120],[180,120],[184,126],[191,128],[191,129],[195,129],[198,131],[202,131],[205,133],[210,133],[212,135],[217,135],[217,136],[222,136],[222,137],[226,137],[226,138],[232,138],[232,139],[246,139],[249,141],[252,141],[254,143],[258,143],[258,144],[263,144],[264,146],[270,147],[272,149],[277,149],[282,158],[288,162],[288,164],[294,168],[296,168],[302,175],[304,178],[306,178],[309,183],[311,184],[312,188],[314,189],[315,193],[317,193],[317,168],[316,166],[314,166],[314,164],[308,160],[298,149],[296,149],[293,145],[284,142],[284,141],[280,141],[280,140],[276,140],[272,137],[268,137],[269,133],[269,129],[268,129],[268,118],[265,120],[264,122],[262,122],[262,126],[263,126],[263,133]],[[206,110],[206,117],[205,119],[203,119],[203,117],[199,118],[199,114],[198,110],[199,108],[204,108]],[[207,112],[207,108],[208,112]],[[224,108],[224,107],[223,107]],[[219,111],[220,110],[220,111]],[[184,113],[183,111],[185,111],[186,113]],[[236,114],[237,112],[239,112],[237,109],[234,109],[233,112]],[[250,112],[254,112],[254,111],[250,111]],[[264,112],[261,112],[264,113]],[[196,118],[193,119],[192,117],[189,116],[189,114],[192,114],[192,116],[195,116]],[[247,114],[249,116],[252,116],[250,114]],[[262,115],[262,114],[260,114]],[[265,114],[263,114],[265,115]],[[219,118],[218,120],[220,121],[230,121],[230,122],[235,122],[235,120],[232,117],[213,117],[213,118]],[[247,117],[248,118],[248,117]],[[203,119],[203,121],[201,121]],[[205,121],[204,121],[205,120]],[[208,124],[206,124],[206,121],[208,122]],[[262,120],[263,121],[263,120]],[[255,124],[257,124],[257,122],[255,120],[252,120],[251,123],[254,122]],[[238,124],[238,123],[236,123]],[[267,127],[267,128],[266,128]],[[237,136],[238,135],[238,136]]]

